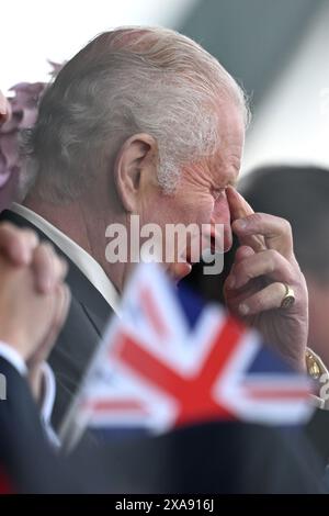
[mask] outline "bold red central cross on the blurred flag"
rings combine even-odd
[[[110,354],[112,360],[117,359],[175,400],[179,404],[175,426],[195,420],[232,419],[232,412],[224,403],[214,400],[212,390],[243,332],[246,330],[239,323],[228,317],[216,332],[204,363],[193,377],[179,374],[141,347],[138,339],[132,338],[124,329],[110,347]]]

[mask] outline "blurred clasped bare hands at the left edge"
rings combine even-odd
[[[0,225],[0,339],[25,360],[36,395],[39,366],[69,307],[66,273],[66,262],[32,231]]]

